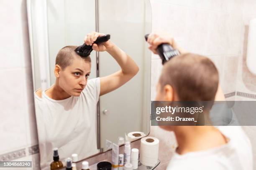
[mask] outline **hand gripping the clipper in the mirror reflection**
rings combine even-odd
[[[105,34],[93,31],[84,37],[84,43],[86,45],[92,45],[96,41],[97,37],[100,37],[103,35],[105,35]],[[100,45],[97,45],[97,44],[92,45],[92,49],[95,51],[107,51],[107,50],[111,49],[112,47],[113,47],[113,42],[111,42],[110,40],[108,40]]]

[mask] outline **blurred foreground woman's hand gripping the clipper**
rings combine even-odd
[[[148,35],[147,42],[150,45],[148,48],[152,52],[154,52],[154,54],[158,54],[156,49],[160,44],[163,44],[163,43],[168,43],[175,50],[179,50],[181,54],[186,53],[186,50],[184,50],[182,47],[179,47],[175,42],[174,38],[172,37],[172,35],[167,32],[152,32],[151,34]]]

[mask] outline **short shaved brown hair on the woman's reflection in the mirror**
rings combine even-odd
[[[59,65],[61,69],[64,70],[67,66],[72,64],[72,61],[74,60],[74,58],[84,60],[85,62],[91,62],[90,56],[81,57],[80,55],[78,55],[75,52],[76,48],[77,46],[74,46],[74,45],[69,45],[61,48],[61,50],[59,50],[56,56],[55,65]]]

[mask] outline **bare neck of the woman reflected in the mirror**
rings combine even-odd
[[[64,100],[71,96],[59,86],[58,80],[56,80],[54,85],[47,89],[45,93],[48,97],[54,100]]]

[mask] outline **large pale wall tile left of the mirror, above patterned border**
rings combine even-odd
[[[25,69],[1,70],[0,153],[26,146],[26,124],[24,110]]]

